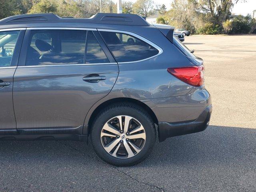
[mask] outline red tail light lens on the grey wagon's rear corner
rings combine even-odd
[[[204,84],[204,66],[192,66],[182,68],[168,68],[167,71],[176,78],[193,86]]]

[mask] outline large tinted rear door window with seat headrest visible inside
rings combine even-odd
[[[26,65],[83,64],[84,30],[31,30]]]

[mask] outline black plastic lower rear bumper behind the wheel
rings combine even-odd
[[[159,122],[158,137],[159,142],[163,142],[166,138],[186,135],[203,131],[207,128],[212,113],[212,105],[207,106],[200,116],[192,122],[168,123]]]

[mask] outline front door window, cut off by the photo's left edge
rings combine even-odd
[[[0,67],[10,67],[19,31],[0,32]]]

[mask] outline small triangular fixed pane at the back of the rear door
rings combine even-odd
[[[86,63],[109,63],[108,58],[91,31],[88,31],[87,36]]]

